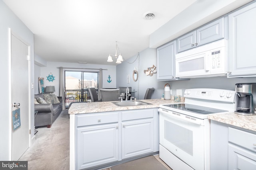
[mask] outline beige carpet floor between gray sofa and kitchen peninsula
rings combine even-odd
[[[69,115],[63,110],[52,127],[38,127],[35,142],[19,160],[28,170],[69,170]]]

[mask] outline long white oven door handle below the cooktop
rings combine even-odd
[[[190,117],[190,116],[181,116],[181,115],[177,115],[177,113],[173,112],[173,111],[167,111],[167,110],[159,110],[159,112],[167,115],[167,116],[170,116],[170,117],[175,117],[177,119],[181,119],[181,120],[184,120],[184,121],[188,121],[188,122],[191,122],[191,123],[194,123],[194,124],[197,124],[197,125],[201,125],[201,126],[204,126],[204,121],[202,119],[197,119],[197,118],[193,118],[193,117]],[[166,113],[164,112],[166,111]]]

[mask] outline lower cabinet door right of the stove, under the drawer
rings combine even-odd
[[[256,153],[229,143],[228,170],[256,170]]]

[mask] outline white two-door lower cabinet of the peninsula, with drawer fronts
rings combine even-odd
[[[159,151],[157,108],[75,116],[78,170]]]

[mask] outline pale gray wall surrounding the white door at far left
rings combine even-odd
[[[0,119],[0,160],[11,160],[12,149],[12,104],[11,104],[11,68],[9,57],[9,33],[8,29],[18,35],[21,39],[31,45],[31,82],[34,82],[34,34],[26,27],[22,21],[0,0],[0,69],[1,76],[1,119]],[[20,75],[24,76],[24,75]],[[22,90],[22,89],[20,89]],[[34,96],[32,90],[31,98]],[[31,105],[34,111],[34,100]],[[34,112],[31,117],[34,117]],[[31,121],[32,132],[34,131],[34,119]],[[33,137],[34,135],[32,135]]]

